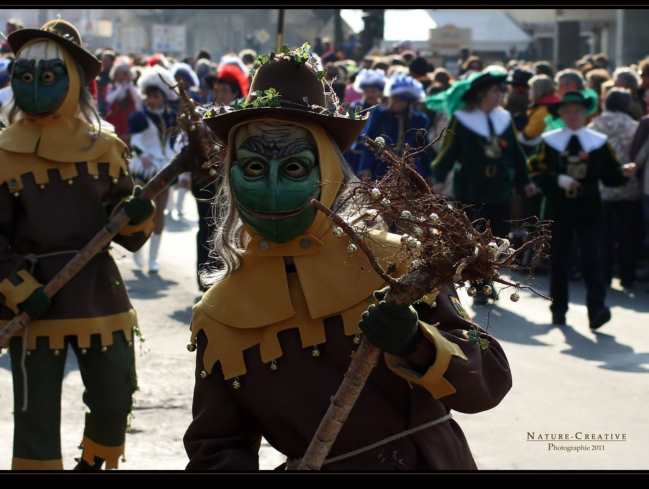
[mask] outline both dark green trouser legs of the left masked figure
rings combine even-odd
[[[114,450],[123,445],[132,395],[137,389],[135,349],[122,332],[113,333],[113,345],[101,346],[99,335],[92,335],[89,348],[79,348],[74,337],[66,338],[75,352],[85,387],[83,402],[84,437],[92,440],[99,452],[106,447],[107,465],[116,464]],[[23,412],[23,372],[20,366],[21,339],[10,342],[14,385],[14,457],[20,459],[61,459],[61,385],[66,364],[66,349],[56,354],[47,338],[37,338],[37,349],[25,357],[27,369],[27,411]]]

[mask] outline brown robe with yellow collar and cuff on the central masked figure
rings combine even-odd
[[[324,228],[309,238],[317,238],[321,247],[310,247],[302,260],[295,257],[295,272],[278,271],[271,265],[273,256],[258,256],[263,253],[249,247],[252,256],[245,256],[244,263],[252,261],[256,268],[244,265],[211,287],[194,307],[194,419],[184,438],[188,470],[258,470],[262,436],[289,463],[306,452],[357,348],[357,322],[369,306],[364,298],[382,285],[373,272],[351,266],[353,260],[345,260],[350,256],[347,242]],[[376,250],[388,255],[399,239],[378,238],[383,247]],[[295,242],[302,240],[304,236]],[[338,309],[332,296],[338,297]],[[421,302],[416,309],[422,341],[435,345],[433,363],[418,372],[406,359],[381,356],[328,458],[378,444],[452,410],[491,409],[511,388],[509,364],[497,340],[480,329],[488,349],[469,341],[467,330],[477,326],[452,284],[443,287],[435,302]],[[314,349],[319,355],[314,356]],[[371,471],[476,468],[452,419],[322,466]]]

